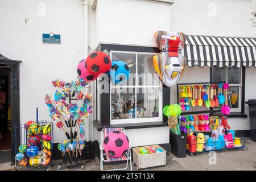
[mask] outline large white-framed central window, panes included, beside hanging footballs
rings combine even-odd
[[[130,70],[122,84],[110,84],[110,123],[162,121],[162,83],[152,68],[155,53],[110,51],[112,61],[122,60]]]

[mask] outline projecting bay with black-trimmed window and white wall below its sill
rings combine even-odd
[[[123,127],[132,147],[159,144],[168,151],[169,129],[162,109],[170,104],[170,88],[160,82],[151,64],[159,49],[100,44],[98,51],[108,51],[112,61],[125,61],[130,75],[127,84],[121,86],[109,80],[97,81],[97,119],[93,121],[96,143],[101,143],[100,131],[104,127]],[[101,93],[102,89],[105,91]],[[117,103],[122,98],[126,103],[121,102],[123,107],[120,111]]]

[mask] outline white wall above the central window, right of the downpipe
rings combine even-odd
[[[155,46],[154,32],[170,29],[170,7],[138,0],[98,0],[97,42]]]

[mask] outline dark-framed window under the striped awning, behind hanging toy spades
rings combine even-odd
[[[226,82],[229,84],[228,88],[228,105],[230,111],[241,112],[241,98],[242,98],[242,77],[241,68],[218,68],[212,69],[213,82]]]

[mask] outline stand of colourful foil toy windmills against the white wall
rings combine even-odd
[[[52,81],[52,85],[59,90],[56,90],[53,98],[48,94],[45,97],[49,116],[57,129],[63,130],[67,137],[67,140],[59,143],[58,148],[65,163],[67,159],[69,163],[73,159],[77,162],[77,159],[81,159],[81,151],[85,146],[82,138],[85,135],[86,118],[92,113],[92,96],[85,92],[88,82],[82,78],[71,82],[57,79]],[[70,128],[70,132],[67,128]]]

